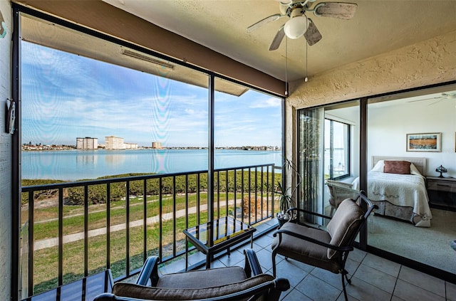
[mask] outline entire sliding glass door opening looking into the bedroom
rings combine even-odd
[[[363,189],[379,208],[360,245],[454,273],[454,260],[442,258],[455,256],[455,116],[455,84],[299,110],[301,208],[331,213],[328,179]]]

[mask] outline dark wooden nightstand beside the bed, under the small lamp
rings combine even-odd
[[[426,176],[426,186],[430,207],[456,211],[456,178]]]

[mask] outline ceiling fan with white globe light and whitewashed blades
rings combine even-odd
[[[304,36],[309,46],[314,45],[321,40],[321,33],[316,28],[312,19],[306,16],[306,13],[314,13],[315,16],[326,16],[338,19],[352,19],[355,15],[357,4],[344,2],[320,2],[314,7],[309,7],[309,3],[317,0],[276,0],[279,1],[279,9],[281,14],[274,14],[252,24],[247,28],[247,32],[251,33],[255,29],[264,26],[266,23],[276,21],[283,17],[288,17],[284,25],[277,31],[274,40],[272,40],[269,51],[274,51],[279,48],[284,36],[289,38],[299,38]]]

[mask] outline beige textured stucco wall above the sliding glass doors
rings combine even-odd
[[[456,80],[456,31],[291,83],[286,156],[294,156],[296,109]],[[293,155],[293,156],[292,156]]]

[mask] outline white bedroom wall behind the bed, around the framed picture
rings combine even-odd
[[[442,164],[448,169],[445,176],[456,176],[456,100],[405,102],[393,107],[368,106],[368,169],[372,156],[427,158],[425,176],[438,176]],[[388,120],[388,122],[385,122]],[[407,152],[406,135],[442,133],[441,152]],[[385,143],[386,142],[386,143]]]

